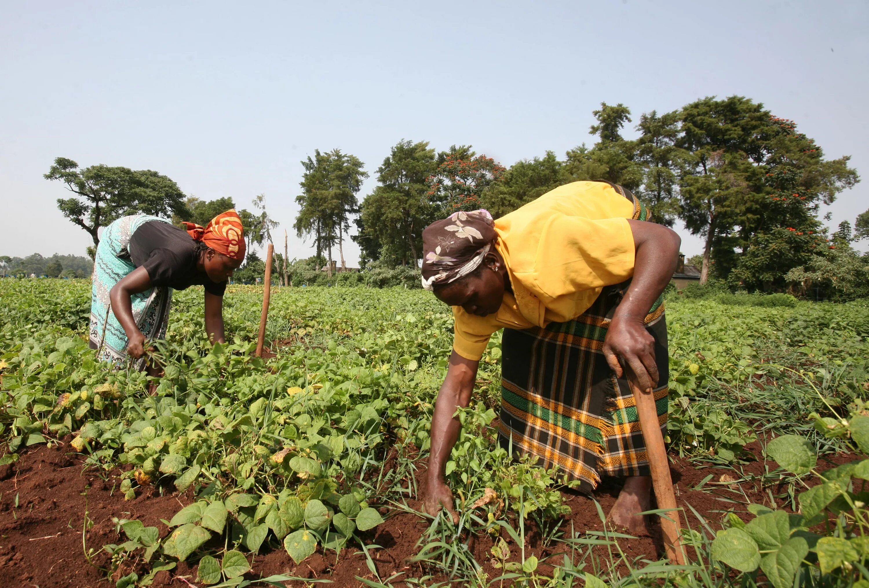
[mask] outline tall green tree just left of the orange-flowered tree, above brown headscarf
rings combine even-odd
[[[422,229],[438,213],[426,183],[436,168],[434,149],[424,141],[398,142],[377,168],[380,185],[362,202],[361,239],[378,243],[381,257],[418,267]]]

